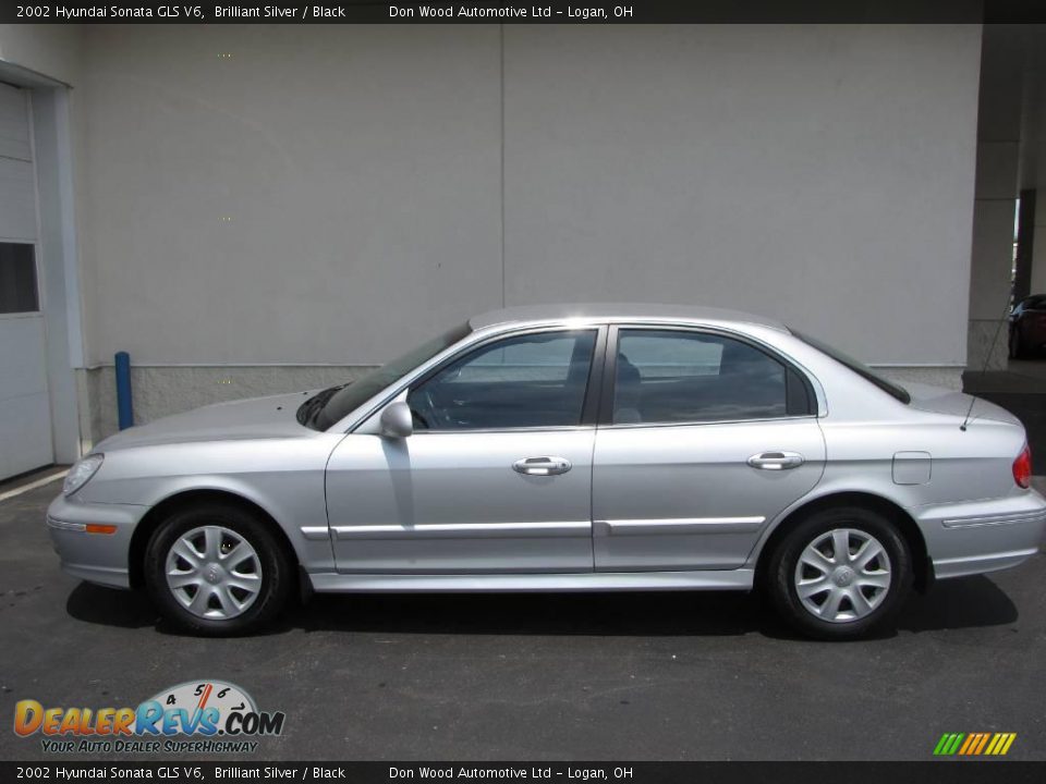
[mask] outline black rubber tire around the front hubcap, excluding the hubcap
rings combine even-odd
[[[207,525],[229,528],[250,542],[262,565],[262,589],[254,603],[234,618],[202,618],[183,608],[167,586],[166,565],[171,546],[187,531]],[[269,623],[285,607],[291,590],[291,567],[268,527],[236,506],[207,504],[181,510],[161,523],[146,547],[145,585],[160,613],[184,632],[205,636],[247,634]]]

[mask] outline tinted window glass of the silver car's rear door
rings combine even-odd
[[[618,333],[615,425],[767,419],[805,411],[793,370],[742,341],[672,330]],[[790,376],[791,378],[790,380]],[[800,411],[792,395],[802,393]]]

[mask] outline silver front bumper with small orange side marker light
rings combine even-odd
[[[131,536],[148,506],[99,504],[59,495],[47,509],[47,531],[62,569],[88,583],[130,588]],[[87,526],[112,526],[111,534],[92,534]]]

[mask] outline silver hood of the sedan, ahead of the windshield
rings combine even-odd
[[[216,403],[127,428],[99,443],[94,451],[191,441],[301,437],[311,431],[299,425],[295,414],[299,406],[318,391]]]

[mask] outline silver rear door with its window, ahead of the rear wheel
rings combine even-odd
[[[596,571],[743,565],[814,488],[825,444],[810,382],[740,335],[611,330],[593,468]]]

